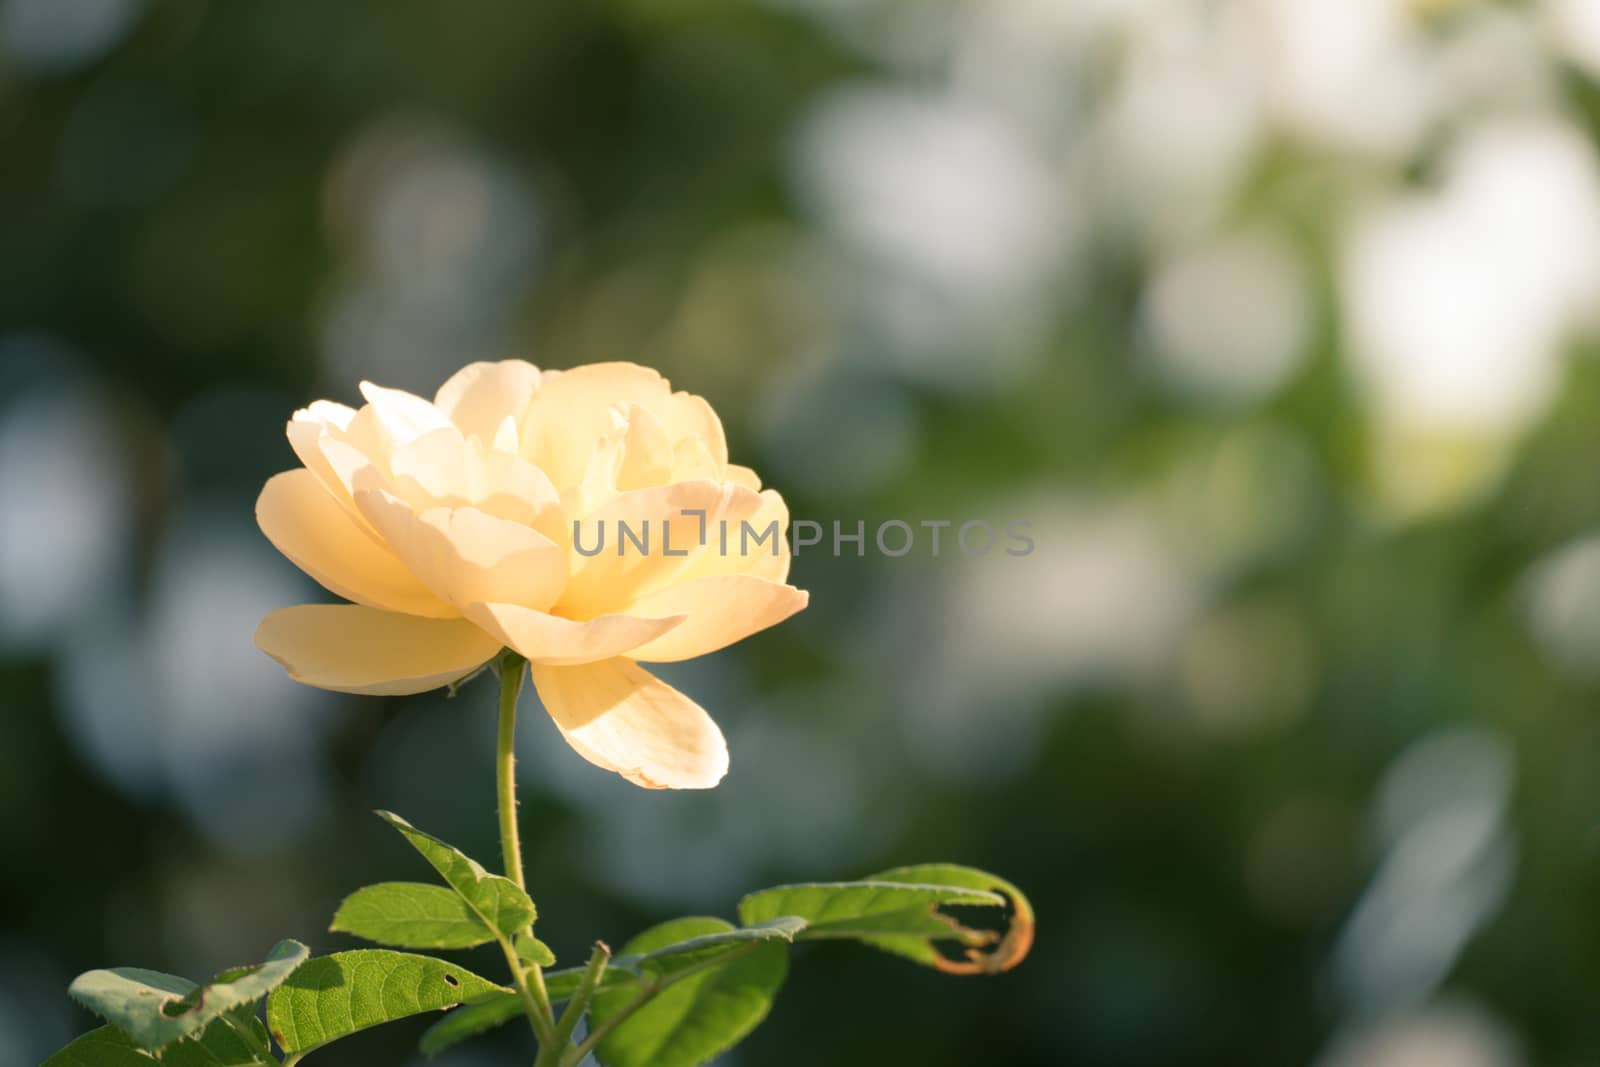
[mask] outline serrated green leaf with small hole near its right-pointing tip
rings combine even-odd
[[[267,998],[267,1027],[285,1053],[306,1053],[357,1030],[496,992],[504,987],[445,960],[357,949],[301,966]]]

